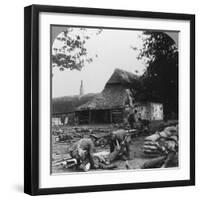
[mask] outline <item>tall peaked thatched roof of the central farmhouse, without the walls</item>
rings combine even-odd
[[[140,85],[138,76],[121,69],[115,69],[103,91],[96,95],[92,100],[79,106],[77,110],[98,110],[123,107],[128,97],[126,89],[130,86],[133,87],[134,85],[136,87],[139,87]]]

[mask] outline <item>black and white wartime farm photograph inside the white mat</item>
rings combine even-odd
[[[179,168],[179,31],[50,26],[52,175]]]

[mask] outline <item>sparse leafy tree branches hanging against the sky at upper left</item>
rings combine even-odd
[[[101,31],[101,29],[88,31],[87,28],[66,28],[56,38],[59,45],[52,47],[52,66],[58,67],[61,71],[81,70],[86,62],[93,61],[93,58],[87,55],[86,41],[94,35],[99,35]]]

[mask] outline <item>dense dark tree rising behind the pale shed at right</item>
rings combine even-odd
[[[164,114],[178,115],[178,49],[174,40],[163,32],[145,31],[138,59],[145,59],[139,100],[160,101]]]

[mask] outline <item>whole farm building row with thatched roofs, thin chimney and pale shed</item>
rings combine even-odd
[[[163,119],[163,105],[136,102],[135,90],[142,87],[133,73],[115,69],[101,93],[83,94],[53,99],[53,124],[106,124],[123,123],[133,110],[138,117],[148,120]],[[83,83],[81,82],[81,90]],[[63,121],[63,122],[61,122]]]

